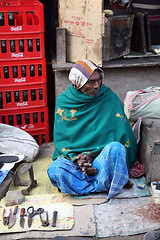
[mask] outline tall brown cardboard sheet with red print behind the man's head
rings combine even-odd
[[[67,61],[102,66],[103,1],[59,1],[59,26],[67,29]]]

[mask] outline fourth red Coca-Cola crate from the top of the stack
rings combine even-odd
[[[0,109],[47,106],[47,84],[30,84],[0,88]]]

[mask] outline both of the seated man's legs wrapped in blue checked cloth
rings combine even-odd
[[[128,182],[125,147],[112,142],[103,148],[92,163],[98,173],[87,176],[78,165],[66,158],[58,158],[48,168],[48,176],[54,186],[71,195],[109,191],[107,200],[120,192]]]

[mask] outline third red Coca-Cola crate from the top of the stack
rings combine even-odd
[[[46,59],[2,61],[0,87],[31,83],[46,83]]]

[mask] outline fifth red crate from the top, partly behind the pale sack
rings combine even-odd
[[[48,107],[0,110],[0,123],[19,127],[24,131],[49,129]]]

